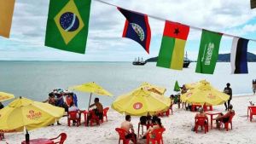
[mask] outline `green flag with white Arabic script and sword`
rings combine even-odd
[[[212,74],[218,60],[219,43],[222,33],[202,30],[200,49],[195,72]]]

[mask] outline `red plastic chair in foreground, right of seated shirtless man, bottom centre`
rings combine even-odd
[[[153,130],[152,132],[147,134],[147,144],[149,144],[149,142],[151,142],[152,144],[155,144],[155,142],[157,142],[157,144],[164,144],[163,141],[163,132],[166,131],[165,128],[161,128],[161,129],[156,129]]]

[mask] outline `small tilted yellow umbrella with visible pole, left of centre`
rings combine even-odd
[[[112,96],[112,94],[110,92],[108,92],[106,89],[103,89],[100,85],[98,85],[94,82],[76,85],[76,86],[70,87],[68,89],[73,89],[73,90],[77,90],[77,91],[81,91],[81,92],[88,92],[88,93],[90,93],[90,100],[91,100],[92,94]],[[89,106],[90,106],[90,101],[89,101]],[[88,106],[88,109],[89,109],[89,106]]]

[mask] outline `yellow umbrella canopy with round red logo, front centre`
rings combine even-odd
[[[145,89],[136,89],[131,93],[120,95],[113,101],[112,108],[117,112],[133,116],[143,116],[166,111],[171,100],[162,95],[155,94]]]

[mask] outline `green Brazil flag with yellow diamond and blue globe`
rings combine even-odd
[[[91,0],[50,0],[45,46],[84,54]]]

